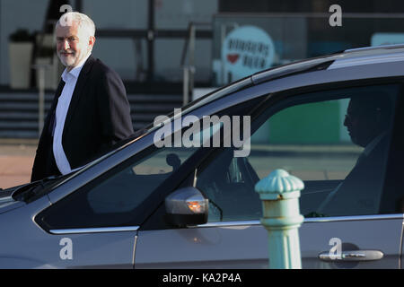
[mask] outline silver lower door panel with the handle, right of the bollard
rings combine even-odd
[[[344,217],[340,221],[305,222],[299,229],[303,268],[388,268],[397,269],[400,264],[400,238],[402,214]],[[331,239],[340,239],[342,251],[380,250],[383,257],[373,261],[322,261],[321,252],[330,252]]]

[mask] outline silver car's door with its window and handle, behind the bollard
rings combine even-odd
[[[198,165],[194,183],[209,199],[208,222],[139,230],[136,267],[267,267],[267,231],[259,223],[254,185],[270,171],[284,169],[305,185],[299,230],[303,268],[398,268],[402,144],[393,127],[401,126],[394,125],[401,118],[395,115],[401,86],[350,84],[279,93],[268,100],[251,121],[247,156],[234,157],[232,147],[222,147]],[[365,120],[359,132],[375,131],[366,135],[365,146],[347,119],[358,120],[350,113],[354,100]]]

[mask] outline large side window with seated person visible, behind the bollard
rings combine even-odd
[[[209,222],[261,216],[259,179],[276,169],[301,178],[306,217],[380,211],[399,85],[300,94],[270,105],[251,123],[250,154],[215,154],[198,174]]]

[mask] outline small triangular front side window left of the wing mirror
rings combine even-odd
[[[138,225],[136,207],[196,151],[196,148],[163,147],[52,205],[41,222],[49,229]]]

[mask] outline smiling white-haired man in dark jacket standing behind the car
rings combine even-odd
[[[134,132],[122,80],[92,57],[92,20],[65,13],[56,38],[57,56],[66,69],[40,135],[31,181],[70,173]]]

